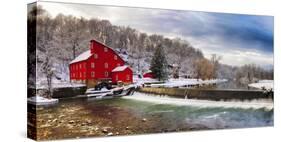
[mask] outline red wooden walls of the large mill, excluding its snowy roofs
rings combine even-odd
[[[84,60],[75,59],[69,65],[71,80],[88,80],[88,79],[111,79],[112,70],[118,66],[123,66],[125,61],[110,47],[91,40],[90,51]],[[82,53],[84,54],[84,53]],[[79,56],[78,56],[79,57]],[[77,58],[78,58],[77,57]],[[119,81],[132,82],[133,72],[124,70],[125,73],[119,72]],[[124,76],[123,76],[124,75]],[[126,76],[129,75],[129,81]],[[115,81],[116,82],[116,81]]]

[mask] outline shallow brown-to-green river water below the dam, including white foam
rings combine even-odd
[[[136,92],[37,107],[38,138],[61,139],[273,126],[273,102],[213,102]]]

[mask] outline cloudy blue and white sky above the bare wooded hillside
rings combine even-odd
[[[233,66],[257,64],[273,67],[272,16],[210,13],[39,2],[52,17],[62,13],[87,19],[109,20],[148,34],[187,40],[206,58],[222,56],[221,62]]]

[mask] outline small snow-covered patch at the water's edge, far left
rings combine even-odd
[[[48,99],[48,98],[44,98],[41,96],[34,96],[31,98],[28,98],[27,101],[34,105],[49,105],[49,104],[55,104],[55,103],[59,102],[58,99],[54,99],[54,98]]]

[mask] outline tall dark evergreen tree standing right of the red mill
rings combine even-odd
[[[154,52],[154,56],[152,57],[150,70],[152,71],[154,77],[156,77],[159,81],[166,80],[168,78],[167,72],[167,60],[165,57],[165,52],[163,47],[159,44]]]

